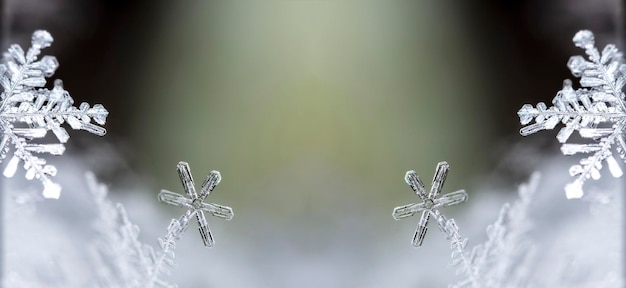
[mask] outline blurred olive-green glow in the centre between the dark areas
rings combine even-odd
[[[324,215],[353,203],[389,214],[415,200],[407,170],[428,183],[446,160],[450,190],[483,169],[491,107],[476,95],[488,79],[446,5],[181,6],[146,51],[131,100],[140,167],[159,186],[180,190],[184,160],[198,182],[221,171],[216,198],[244,213]]]

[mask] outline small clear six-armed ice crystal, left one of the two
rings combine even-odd
[[[189,220],[191,217],[195,215],[198,220],[198,229],[200,230],[202,241],[205,246],[211,247],[215,242],[213,241],[211,230],[209,230],[209,224],[204,216],[204,211],[225,220],[231,220],[233,218],[233,210],[230,207],[203,202],[206,197],[209,196],[211,191],[213,191],[215,186],[220,183],[220,180],[222,179],[220,172],[211,171],[207,179],[204,183],[202,183],[202,186],[200,187],[200,194],[198,194],[196,193],[196,188],[194,187],[195,184],[193,182],[193,178],[191,177],[189,164],[181,161],[177,165],[177,170],[178,176],[180,176],[180,181],[185,188],[185,192],[189,195],[189,198],[174,192],[161,190],[159,193],[159,200],[170,205],[186,207],[189,210],[187,210],[185,215],[183,215],[179,220],[174,219],[172,221],[172,224],[170,224],[170,227],[168,228],[168,237],[166,237],[162,246],[169,245],[168,239],[180,237],[180,235],[187,229],[187,226],[189,226]]]

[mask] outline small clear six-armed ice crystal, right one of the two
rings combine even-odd
[[[438,208],[459,204],[467,200],[468,196],[467,193],[465,193],[465,190],[448,193],[440,198],[437,198],[437,195],[441,192],[441,188],[443,188],[443,184],[446,181],[449,169],[450,165],[448,165],[447,162],[439,162],[439,164],[437,164],[437,170],[431,184],[430,193],[428,194],[426,194],[424,183],[422,183],[422,180],[420,180],[415,171],[406,172],[404,180],[407,184],[409,184],[409,186],[411,186],[411,188],[413,188],[413,191],[415,191],[420,200],[422,200],[422,203],[412,203],[396,207],[393,209],[392,215],[394,219],[400,220],[413,216],[417,212],[422,212],[422,217],[420,218],[417,230],[415,231],[415,235],[411,241],[415,247],[421,246],[424,241],[424,236],[426,236],[426,231],[428,230],[428,220],[430,216],[434,215],[437,218],[443,217],[443,215],[439,214]]]

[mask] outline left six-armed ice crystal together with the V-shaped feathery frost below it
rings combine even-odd
[[[212,171],[202,185],[198,195],[193,188],[194,183],[189,171],[189,165],[185,162],[180,162],[178,164],[178,172],[185,190],[190,195],[196,195],[193,199],[199,200],[200,203],[220,181],[219,172]],[[172,219],[167,228],[167,234],[158,239],[161,250],[155,252],[152,246],[144,244],[139,240],[139,227],[128,219],[123,205],[119,203],[114,205],[107,199],[107,188],[98,184],[93,174],[87,175],[87,183],[92,199],[95,202],[95,212],[97,213],[93,228],[99,234],[97,240],[92,244],[90,253],[92,259],[94,259],[94,271],[97,273],[97,277],[93,279],[96,283],[89,287],[177,287],[177,285],[165,281],[163,276],[171,274],[171,268],[175,266],[174,250],[176,249],[176,241],[187,230],[192,218],[196,216],[200,222],[201,219],[204,219],[201,218],[201,216],[204,216],[201,215],[203,210],[213,211],[214,215],[219,214],[218,216],[227,220],[232,219],[233,216],[232,209],[229,207],[201,203],[202,205],[199,208],[195,208],[194,204],[191,204],[194,203],[193,201],[183,201],[181,203],[185,204],[182,206],[191,205],[194,208],[190,208],[179,219]],[[168,191],[164,193],[162,191],[159,193],[159,199],[168,203],[181,200],[172,199],[171,194],[174,193]],[[186,199],[184,197],[181,198]],[[206,235],[212,245],[212,237],[206,225],[206,220],[203,223],[204,225],[201,225],[200,231],[201,233],[206,233],[203,236]]]

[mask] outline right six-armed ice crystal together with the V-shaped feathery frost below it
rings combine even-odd
[[[406,181],[418,196],[421,195],[422,203],[395,208],[394,218],[399,220],[423,211],[422,219],[413,238],[415,246],[422,243],[429,217],[435,219],[437,227],[450,243],[452,250],[450,267],[456,270],[457,275],[463,277],[457,283],[450,284],[450,288],[528,287],[531,267],[533,261],[536,260],[535,247],[528,237],[532,228],[529,220],[529,207],[538,187],[539,174],[533,174],[527,185],[519,187],[519,200],[512,205],[506,203],[502,206],[496,221],[487,227],[487,241],[468,252],[466,249],[468,238],[461,236],[455,220],[447,218],[436,209],[458,204],[467,200],[468,197],[465,191],[460,190],[435,199],[447,172],[446,162],[437,165],[428,196],[426,196],[424,184],[415,172],[407,172]]]

